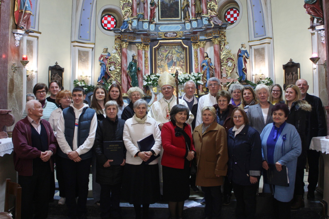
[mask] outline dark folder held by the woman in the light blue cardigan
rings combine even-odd
[[[287,165],[282,165],[280,172],[276,169],[275,164],[267,165],[268,169],[263,169],[264,183],[276,186],[289,186]]]

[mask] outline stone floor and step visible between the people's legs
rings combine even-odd
[[[307,218],[307,219],[317,219],[321,218],[321,213],[322,213],[322,205],[320,203],[320,200],[322,198],[320,197],[319,194],[316,193],[316,199],[313,201],[307,200],[306,195],[307,195],[307,177],[308,173],[305,172],[304,176],[304,181],[305,181],[305,208],[301,208],[300,210],[296,211],[291,211],[291,219],[302,219],[302,218]],[[262,179],[260,182],[260,191],[262,190]],[[200,203],[201,199],[203,198],[203,193],[200,191],[199,193],[193,193],[191,190],[190,193],[190,198],[189,200],[193,203],[196,202],[195,204]],[[49,205],[49,219],[66,219],[66,206],[61,206],[58,205],[58,192],[55,194],[55,200],[53,203],[50,203]],[[132,205],[129,203],[121,202],[120,203],[121,210],[122,210],[122,216],[124,219],[133,219],[135,218],[135,212],[134,208]],[[236,206],[236,200],[234,197],[234,194],[232,195],[232,201],[229,206],[223,206],[222,207],[222,219],[231,219],[235,218],[235,206]],[[94,200],[92,198],[92,191],[91,191],[91,175],[90,175],[90,182],[89,182],[89,198],[87,200],[87,210],[88,210],[88,217],[90,219],[100,219],[99,213],[100,209],[99,206],[97,206],[94,203]],[[196,207],[192,208],[187,208],[184,210],[184,218],[186,219],[199,219],[203,218],[203,212],[204,212],[204,205],[198,205]],[[169,216],[168,212],[168,205],[166,202],[158,202],[153,205],[150,205],[150,218],[152,219],[166,219]],[[264,218],[264,219],[270,219],[271,216],[263,216],[259,218]]]

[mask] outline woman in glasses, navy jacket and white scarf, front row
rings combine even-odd
[[[227,135],[228,171],[237,199],[236,217],[255,218],[257,182],[262,169],[262,142],[258,131],[248,125],[243,109],[233,110]]]

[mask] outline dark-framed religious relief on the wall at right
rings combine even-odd
[[[283,90],[286,90],[286,87],[290,84],[296,84],[296,81],[300,79],[300,64],[295,63],[292,59],[285,65],[282,65],[283,68]]]

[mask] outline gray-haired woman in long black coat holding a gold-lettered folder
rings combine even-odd
[[[118,119],[118,104],[110,100],[105,104],[106,118],[98,122],[95,142],[93,145],[96,154],[96,182],[101,185],[100,208],[101,217],[121,218],[120,213],[120,190],[123,175],[123,166],[126,162],[126,149],[122,154],[123,162],[120,165],[111,165],[104,155],[104,142],[123,141],[124,120]]]

